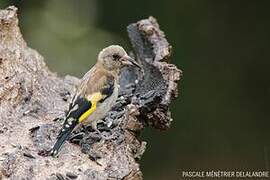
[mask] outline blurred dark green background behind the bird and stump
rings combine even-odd
[[[81,77],[109,44],[130,48],[126,26],[156,17],[184,71],[171,129],[147,128],[145,179],[182,171],[269,170],[270,1],[1,0],[52,71]]]

